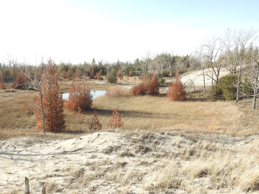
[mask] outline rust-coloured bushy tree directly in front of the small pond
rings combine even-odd
[[[91,108],[92,103],[93,96],[91,95],[87,84],[79,82],[78,80],[76,80],[76,82],[72,81],[65,108],[80,113],[81,111],[86,111]]]

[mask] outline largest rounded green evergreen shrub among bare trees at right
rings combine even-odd
[[[222,95],[227,100],[234,100],[237,97],[237,74],[229,74],[219,79],[219,87]]]

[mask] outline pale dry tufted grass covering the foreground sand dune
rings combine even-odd
[[[121,139],[125,138],[125,145],[102,158],[90,157],[84,163],[80,160],[65,162],[59,157],[53,166],[41,163],[41,170],[29,169],[31,191],[37,193],[39,183],[47,186],[48,193],[102,193],[105,188],[105,193],[108,193],[107,188],[117,193],[174,193],[174,189],[185,193],[259,191],[258,151],[234,155],[210,141],[195,142],[143,131],[138,136],[122,135]],[[170,144],[176,141],[178,146]],[[125,154],[121,157],[121,153],[138,153],[135,144],[150,149],[142,156]],[[64,153],[64,158],[70,154]],[[45,176],[39,176],[42,174]],[[18,186],[10,193],[21,192],[23,184]]]

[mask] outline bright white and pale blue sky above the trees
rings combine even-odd
[[[226,28],[259,30],[258,0],[0,0],[0,62],[187,55]]]

